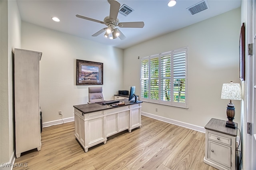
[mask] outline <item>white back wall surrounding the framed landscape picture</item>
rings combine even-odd
[[[22,48],[42,52],[40,106],[43,122],[74,117],[73,105],[88,102],[88,87],[76,85],[76,59],[103,63],[103,95],[122,89],[123,50],[22,22]],[[96,86],[96,85],[94,85]]]

